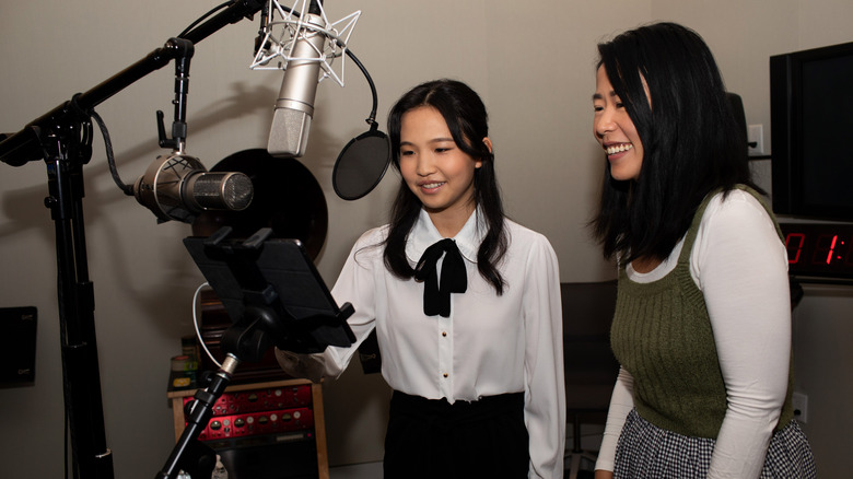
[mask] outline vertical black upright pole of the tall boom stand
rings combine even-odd
[[[59,133],[45,143],[49,190],[45,206],[56,226],[63,394],[72,464],[82,477],[100,479],[113,477],[113,455],[106,446],[94,288],[89,279],[83,227],[82,166],[91,150],[79,137],[89,128],[86,122],[58,128]]]

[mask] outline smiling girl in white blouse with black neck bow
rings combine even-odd
[[[401,174],[390,224],[362,235],[332,295],[358,340],[279,351],[285,371],[337,377],[375,330],[394,389],[383,475],[557,478],[565,390],[557,256],[503,214],[488,115],[465,83],[406,93],[388,115]]]

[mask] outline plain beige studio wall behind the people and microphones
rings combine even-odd
[[[0,131],[17,131],[73,93],[83,92],[177,35],[219,2],[79,0],[0,7]],[[654,20],[702,34],[747,121],[770,143],[768,57],[853,39],[846,0],[342,1],[332,20],[362,17],[350,45],[373,75],[384,124],[394,100],[439,77],[470,83],[491,113],[506,209],[545,233],[563,281],[612,276],[583,224],[595,203],[601,155],[591,136],[595,44]],[[522,10],[518,10],[522,9]],[[191,65],[188,152],[208,166],[266,145],[280,72],[248,70],[256,22],[231,25],[200,43]],[[132,182],[162,153],[154,110],[171,118],[173,67],[148,75],[97,107],[113,137],[119,172]],[[389,174],[364,199],[337,198],[330,184],[340,149],[365,129],[370,92],[352,63],[347,86],[324,82],[303,163],[326,192],[329,231],[317,265],[328,283],[358,235],[381,224],[396,188]],[[756,162],[763,175],[769,162]],[[9,476],[62,474],[62,397],[52,223],[43,207],[44,164],[0,166],[0,306],[39,311],[37,378],[0,389],[0,458]],[[85,170],[85,226],[95,283],[100,363],[108,444],[116,476],[151,477],[173,441],[165,399],[168,359],[191,331],[190,301],[201,276],[180,245],[189,226],[157,225],[114,185],[97,136]],[[287,188],[288,178],[282,178]],[[768,185],[769,186],[769,185]],[[809,395],[811,435],[825,477],[849,470],[850,289],[809,289],[795,314],[799,388]],[[332,464],[382,456],[387,388],[358,365],[325,386]],[[834,472],[833,472],[834,471]]]

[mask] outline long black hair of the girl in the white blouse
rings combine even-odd
[[[388,114],[393,163],[398,172],[402,115],[420,106],[435,108],[447,124],[456,147],[470,157],[482,161],[482,166],[475,170],[474,201],[482,212],[488,231],[477,252],[477,268],[498,294],[502,294],[504,280],[498,271],[498,262],[506,252],[507,241],[503,205],[494,174],[494,155],[481,141],[489,136],[486,105],[468,85],[446,79],[422,83],[402,95]],[[390,229],[384,252],[386,268],[401,279],[414,274],[414,269],[406,258],[406,238],[418,220],[421,207],[421,201],[401,179],[392,207]]]

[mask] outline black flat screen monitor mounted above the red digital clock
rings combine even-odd
[[[778,214],[853,221],[853,43],[770,57]]]

